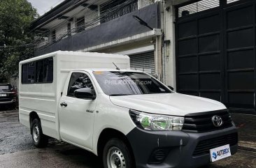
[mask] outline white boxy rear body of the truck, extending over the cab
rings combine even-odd
[[[34,72],[34,79],[29,81],[30,83],[22,82],[22,65],[33,62],[35,64],[34,66],[36,66],[36,61],[43,61],[48,58],[53,59],[52,82],[36,82],[36,78],[38,78],[36,77],[36,72]],[[130,68],[129,56],[92,52],[58,51],[21,61],[19,77],[20,123],[30,128],[29,114],[36,112],[41,119],[43,133],[50,137],[60,139],[57,108],[69,72],[85,68],[115,69],[113,63],[121,69],[129,70]]]

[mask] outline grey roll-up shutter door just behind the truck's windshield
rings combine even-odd
[[[155,73],[155,54],[154,51],[140,54],[131,54],[131,70],[141,70],[151,75]]]

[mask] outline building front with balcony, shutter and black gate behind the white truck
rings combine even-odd
[[[253,0],[73,0],[31,24],[36,55],[57,50],[127,54],[179,93],[256,114]]]

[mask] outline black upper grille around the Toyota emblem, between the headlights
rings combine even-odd
[[[213,125],[212,118],[213,116],[220,116],[223,121],[223,124],[220,127],[215,127]],[[220,130],[223,128],[232,127],[232,119],[225,110],[218,110],[214,112],[203,112],[197,114],[187,114],[185,115],[185,121],[183,125],[184,132],[209,132],[213,130]]]

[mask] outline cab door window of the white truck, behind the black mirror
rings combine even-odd
[[[90,88],[94,91],[90,77],[80,72],[73,72],[69,81],[67,96],[73,97],[74,91],[81,88]]]

